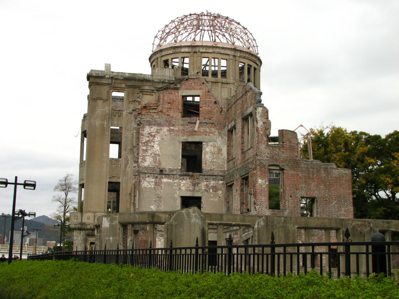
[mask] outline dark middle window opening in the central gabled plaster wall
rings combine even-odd
[[[202,142],[182,142],[182,172],[202,173]]]

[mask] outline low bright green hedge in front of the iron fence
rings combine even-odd
[[[0,263],[1,298],[399,298],[391,278],[327,279],[317,273],[272,277],[264,274],[176,273],[157,269],[63,261]]]

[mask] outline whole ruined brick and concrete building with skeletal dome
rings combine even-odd
[[[206,38],[208,40],[206,40]],[[173,20],[151,75],[87,74],[74,249],[369,240],[394,221],[353,219],[351,172],[300,157],[262,101],[252,34],[219,14]]]

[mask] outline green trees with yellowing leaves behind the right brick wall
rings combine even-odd
[[[331,125],[311,133],[313,159],[352,170],[356,218],[399,219],[398,131],[382,138]]]

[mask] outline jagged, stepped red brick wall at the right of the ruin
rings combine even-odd
[[[235,197],[233,212],[240,212],[241,177],[249,174],[253,195],[250,213],[300,216],[300,197],[314,197],[316,216],[353,218],[350,170],[299,159],[297,134],[290,130],[279,130],[279,144],[269,145],[268,110],[257,105],[258,96],[249,85],[242,85],[227,102],[226,123],[235,122],[236,132],[243,132],[245,111],[253,109],[254,120],[252,148],[244,150],[242,135],[237,135],[235,158],[227,161],[226,177],[233,179],[235,192],[240,194]],[[277,165],[281,171],[280,210],[269,210],[269,165]]]

